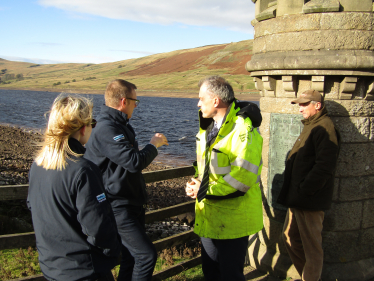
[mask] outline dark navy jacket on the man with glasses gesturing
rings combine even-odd
[[[103,105],[86,144],[85,158],[99,166],[112,207],[141,206],[147,201],[142,170],[156,158],[157,148],[142,150],[127,115]]]

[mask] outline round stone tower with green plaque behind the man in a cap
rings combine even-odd
[[[373,0],[252,0],[251,72],[262,98],[265,228],[250,239],[252,266],[298,277],[281,240],[286,209],[276,203],[287,153],[302,116],[290,101],[323,93],[342,136],[331,210],[325,213],[325,280],[374,277]]]

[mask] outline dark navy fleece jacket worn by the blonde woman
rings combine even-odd
[[[85,151],[74,138],[69,147]],[[48,280],[96,280],[116,265],[121,242],[99,168],[71,158],[62,171],[35,162],[30,169],[27,204],[40,268]]]

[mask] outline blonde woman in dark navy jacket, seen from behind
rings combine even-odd
[[[40,268],[47,280],[114,280],[121,243],[101,172],[82,156],[96,121],[93,104],[60,94],[29,174]]]

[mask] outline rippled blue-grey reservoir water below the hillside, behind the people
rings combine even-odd
[[[43,132],[45,113],[60,93],[0,90],[0,124]],[[83,95],[94,103],[94,117],[104,104],[103,95]],[[137,134],[139,146],[146,145],[155,133],[163,133],[169,146],[159,148],[155,162],[169,166],[191,165],[195,160],[195,135],[198,131],[198,99],[138,97],[130,124]],[[254,102],[257,103],[258,102]]]

